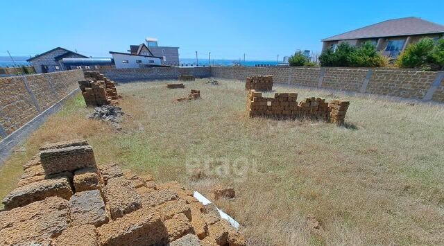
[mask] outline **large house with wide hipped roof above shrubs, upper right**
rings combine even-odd
[[[389,19],[347,33],[322,39],[322,51],[336,49],[338,44],[348,42],[360,46],[365,42],[375,44],[378,51],[386,56],[396,58],[407,45],[418,42],[423,37],[438,40],[443,38],[444,26],[418,17]]]

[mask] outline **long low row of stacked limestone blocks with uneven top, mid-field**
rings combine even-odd
[[[350,102],[337,99],[326,103],[323,98],[305,98],[298,103],[296,93],[276,93],[266,98],[251,89],[247,96],[247,112],[250,118],[311,118],[342,125]]]

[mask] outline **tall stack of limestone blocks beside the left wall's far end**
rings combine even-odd
[[[79,81],[83,98],[88,107],[117,104],[119,94],[115,83],[97,71],[85,71],[85,80]]]

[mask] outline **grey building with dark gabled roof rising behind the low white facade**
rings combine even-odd
[[[162,65],[179,65],[179,47],[159,46],[157,39],[147,37],[146,44],[130,45],[130,52],[133,55],[152,55],[162,58]]]

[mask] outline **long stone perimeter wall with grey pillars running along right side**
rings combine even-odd
[[[212,76],[246,80],[273,76],[273,82],[323,89],[398,96],[444,103],[444,72],[388,69],[337,69],[302,67],[212,67]]]

